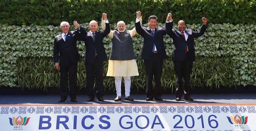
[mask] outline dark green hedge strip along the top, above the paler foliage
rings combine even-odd
[[[142,12],[142,23],[150,15],[165,22],[169,12],[175,20],[187,24],[208,18],[213,24],[255,24],[255,0],[1,0],[0,24],[59,25],[74,20],[86,23],[99,21],[102,13],[112,23],[134,21],[136,11]]]

